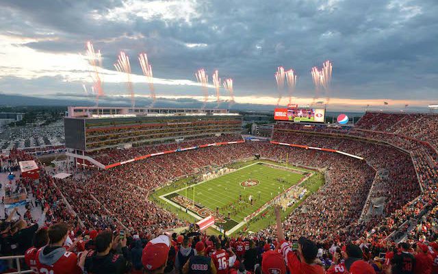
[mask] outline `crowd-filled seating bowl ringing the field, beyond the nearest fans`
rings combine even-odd
[[[94,231],[103,233],[105,229],[123,229],[129,238],[129,250],[134,254],[136,239],[141,240],[141,250],[148,240],[164,230],[190,225],[168,212],[161,202],[149,200],[156,188],[180,177],[206,173],[215,166],[252,159],[257,154],[274,161],[284,161],[284,155],[289,155],[291,164],[323,169],[326,184],[302,201],[283,221],[287,239],[305,236],[316,242],[321,253],[318,253],[315,262],[325,269],[333,267],[331,259],[335,258],[337,248],[346,250],[352,242],[360,247],[364,260],[374,266],[376,273],[389,273],[385,272],[390,269],[389,266],[385,267],[385,262],[396,264],[391,256],[394,251],[397,252],[396,242],[400,240],[414,244],[416,251],[404,245],[400,248],[415,256],[422,256],[422,250],[426,250],[431,258],[437,257],[437,129],[438,119],[432,114],[380,112],[368,112],[355,127],[278,123],[272,134],[275,142],[334,149],[365,160],[318,149],[246,141],[157,155],[110,170],[75,167],[77,175],[66,179],[54,179],[42,169],[39,182],[18,179],[16,184],[27,188],[36,198],[37,207],[49,208],[46,219],[48,227],[59,222],[68,224],[73,232],[70,235],[73,245],[77,245],[74,234],[78,231],[94,237]],[[179,144],[110,149],[91,155],[103,164],[110,164],[148,153],[239,139],[242,140],[240,136],[229,135],[185,140]],[[36,159],[23,151],[12,149],[9,158],[1,158],[2,162],[8,160],[14,163],[16,160]],[[24,218],[28,223],[37,221],[32,219],[29,212]],[[3,239],[8,234],[14,235],[13,224],[3,222],[2,225],[3,228],[9,227]],[[246,236],[249,249],[251,242],[261,247],[260,253],[273,248],[279,243],[276,242],[276,232],[276,226],[273,225]],[[173,240],[179,249],[181,242],[177,238],[175,236]],[[197,241],[205,242],[207,246],[212,245],[211,242],[218,242],[218,238],[202,235],[191,240],[193,245]],[[222,238],[220,245],[237,252],[238,242],[235,237]],[[428,245],[426,249],[424,243]],[[268,244],[268,249],[263,249],[265,244]],[[72,250],[80,257],[79,251],[83,248],[78,247]],[[86,249],[92,249],[91,242]],[[13,253],[1,251],[2,255]],[[136,269],[130,264],[134,258],[126,259],[129,262],[128,272],[131,269],[131,273],[141,273],[135,272],[139,269],[142,271],[141,265]],[[234,268],[234,271],[237,269]]]

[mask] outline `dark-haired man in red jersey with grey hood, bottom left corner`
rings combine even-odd
[[[75,253],[63,247],[68,236],[68,226],[57,223],[47,229],[50,245],[42,247],[36,253],[36,269],[44,274],[81,274],[86,256],[78,262]],[[86,255],[86,254],[85,254]]]

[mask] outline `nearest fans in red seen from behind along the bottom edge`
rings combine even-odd
[[[124,230],[73,229],[60,222],[18,225],[15,240],[34,273],[95,274],[433,274],[438,271],[435,240],[368,245],[361,240],[314,241],[289,238],[275,210],[268,236],[209,236],[190,226],[181,234],[131,234]],[[12,212],[13,216],[15,212]],[[10,223],[8,218],[1,225]],[[14,227],[14,230],[17,228]],[[31,243],[30,243],[31,242]],[[3,251],[3,250],[2,250]],[[14,271],[14,265],[1,265]]]

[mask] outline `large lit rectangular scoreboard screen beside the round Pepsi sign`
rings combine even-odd
[[[324,108],[276,108],[274,120],[324,123],[325,114]]]

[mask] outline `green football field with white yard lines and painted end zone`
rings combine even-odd
[[[160,196],[190,214],[214,215],[216,225],[229,230],[310,173],[257,162],[205,182]]]

